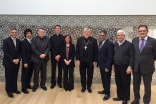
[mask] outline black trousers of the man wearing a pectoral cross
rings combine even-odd
[[[91,88],[94,66],[89,66],[88,62],[80,63],[81,86],[86,89],[86,71],[87,71],[87,88]]]

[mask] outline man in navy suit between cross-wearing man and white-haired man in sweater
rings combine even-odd
[[[103,91],[98,91],[99,94],[105,94],[103,100],[110,98],[110,79],[112,72],[112,63],[114,55],[114,47],[111,41],[107,39],[107,32],[100,31],[100,43],[98,49],[98,66],[100,68]]]

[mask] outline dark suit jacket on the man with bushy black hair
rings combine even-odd
[[[29,41],[25,38],[22,41],[22,63],[23,64],[28,64],[30,63],[31,55],[32,55],[32,49],[31,49],[31,44]]]

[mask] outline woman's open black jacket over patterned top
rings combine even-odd
[[[68,60],[71,60],[69,66],[75,67],[75,60],[74,60],[75,46],[74,46],[74,44],[70,44],[68,57],[69,57]],[[62,48],[61,48],[61,60],[62,60],[62,65],[63,66],[66,65],[65,62],[64,62],[64,59],[66,59],[66,44],[63,44]]]

